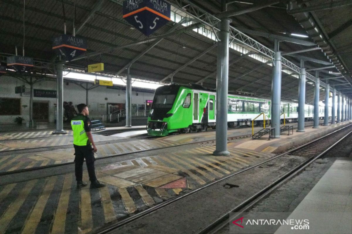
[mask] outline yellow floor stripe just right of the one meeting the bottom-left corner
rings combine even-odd
[[[45,188],[43,189],[42,194],[39,196],[36,205],[32,209],[29,218],[27,218],[22,233],[29,234],[36,231],[38,223],[40,222],[40,218],[42,218],[46,202],[48,202],[51,191],[54,188],[56,179],[57,176],[52,176],[46,180]]]

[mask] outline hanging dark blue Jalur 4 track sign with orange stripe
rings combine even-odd
[[[56,36],[52,40],[52,49],[66,61],[71,61],[87,51],[87,41],[70,35]]]

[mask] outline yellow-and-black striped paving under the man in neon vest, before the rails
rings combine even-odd
[[[198,188],[271,154],[214,146],[160,154],[96,168],[101,189],[76,189],[73,173],[0,186],[0,233],[88,233]],[[84,171],[83,179],[88,180]],[[16,225],[14,225],[16,224]]]

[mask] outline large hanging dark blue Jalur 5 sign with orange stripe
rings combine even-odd
[[[170,21],[171,5],[164,0],[125,0],[123,18],[149,36]]]

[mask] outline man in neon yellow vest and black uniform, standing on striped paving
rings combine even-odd
[[[90,188],[101,188],[105,185],[96,179],[94,168],[94,153],[98,150],[94,144],[92,133],[90,132],[89,110],[86,104],[77,105],[79,114],[72,118],[71,127],[73,130],[73,146],[75,148],[75,175],[77,188],[87,185],[82,181],[83,160],[86,159]],[[92,148],[93,146],[93,148]]]

